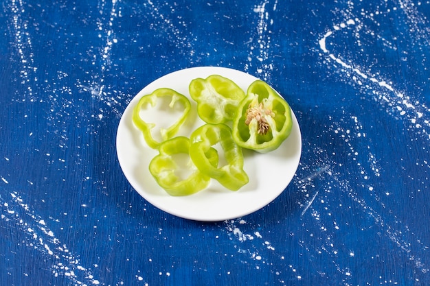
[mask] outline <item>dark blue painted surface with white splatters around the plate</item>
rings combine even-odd
[[[27,1],[0,8],[0,285],[430,285],[430,3]],[[146,84],[230,67],[291,104],[302,159],[201,223],[126,181]],[[280,175],[281,176],[281,175]]]

